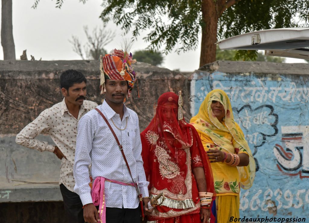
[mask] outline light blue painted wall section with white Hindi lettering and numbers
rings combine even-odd
[[[257,161],[253,186],[240,194],[240,217],[308,217],[309,222],[308,81],[305,75],[192,75],[192,115],[209,91],[224,90]]]

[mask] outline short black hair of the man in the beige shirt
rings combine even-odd
[[[86,77],[79,71],[67,70],[60,75],[60,88],[64,87],[67,91],[74,83],[87,83]]]

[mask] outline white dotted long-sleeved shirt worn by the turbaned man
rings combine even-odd
[[[104,100],[97,107],[107,118],[116,136],[123,146],[133,180],[138,181],[143,197],[149,196],[148,184],[143,168],[142,143],[140,138],[138,116],[124,105],[122,120]],[[112,123],[114,122],[114,124]],[[126,126],[126,121],[127,127]],[[115,125],[125,130],[119,130]],[[73,168],[75,187],[83,205],[93,203],[90,194],[88,166],[91,166],[93,179],[102,176],[110,180],[132,183],[118,144],[108,125],[96,110],[88,112],[78,123],[75,163]],[[137,208],[139,201],[134,187],[105,181],[105,201],[107,207]]]

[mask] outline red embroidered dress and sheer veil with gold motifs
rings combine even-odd
[[[188,215],[186,222],[200,222],[201,205],[193,168],[204,168],[207,192],[214,193],[210,162],[198,133],[184,119],[178,121],[177,112],[178,96],[172,92],[164,93],[159,97],[155,117],[141,133],[150,197],[159,193],[166,197],[148,221]]]

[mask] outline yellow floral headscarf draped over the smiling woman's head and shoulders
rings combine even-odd
[[[225,125],[212,112],[210,106],[212,101],[219,101],[223,105],[225,110]],[[202,102],[197,115],[190,120],[190,124],[196,128],[197,132],[210,137],[214,144],[225,149],[227,152],[235,153],[234,145],[232,145],[227,137],[229,134],[248,152],[249,165],[237,167],[237,169],[240,176],[240,186],[243,189],[249,189],[255,177],[255,161],[243,131],[234,121],[231,103],[226,93],[219,89],[210,91]]]

